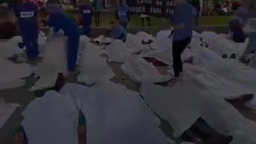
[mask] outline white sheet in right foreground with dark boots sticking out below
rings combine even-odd
[[[203,85],[195,84],[196,76],[184,76],[171,88],[152,83],[145,83],[141,88],[149,106],[174,128],[175,137],[183,134],[198,118],[203,118],[215,130],[232,135],[231,144],[255,143],[254,122],[223,99],[214,97],[211,91],[203,89]]]

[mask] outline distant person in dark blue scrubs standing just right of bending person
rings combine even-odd
[[[90,37],[90,26],[92,21],[93,8],[90,6],[89,0],[86,0],[85,3],[82,3],[82,5],[79,6],[79,9],[82,14],[83,34],[85,34],[87,37]]]

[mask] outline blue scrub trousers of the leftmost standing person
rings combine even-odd
[[[37,36],[27,36],[22,34],[22,40],[26,46],[26,55],[29,59],[34,59],[38,57],[38,34]]]

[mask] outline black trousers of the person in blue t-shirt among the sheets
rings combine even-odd
[[[182,67],[182,52],[186,49],[191,42],[191,38],[184,38],[179,41],[173,42],[173,67],[174,76],[178,77],[179,73],[183,71]]]

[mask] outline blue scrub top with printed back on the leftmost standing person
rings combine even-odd
[[[26,37],[38,36],[38,6],[33,2],[26,2],[18,6],[15,13],[22,35]]]

